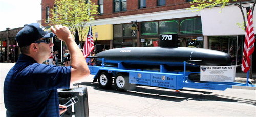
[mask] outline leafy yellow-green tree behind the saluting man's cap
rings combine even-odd
[[[54,4],[50,11],[50,23],[69,27],[74,36],[77,29],[83,41],[87,34],[86,23],[94,20],[98,14],[98,5],[90,0],[56,0]]]

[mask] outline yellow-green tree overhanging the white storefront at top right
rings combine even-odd
[[[240,23],[237,23],[237,25],[242,28],[244,31],[246,29],[246,15],[244,14],[244,9],[246,8],[244,6],[242,6],[242,1],[241,0],[193,0],[193,2],[190,2],[191,4],[191,10],[195,10],[195,11],[201,11],[204,8],[209,8],[211,9],[212,7],[215,7],[217,5],[221,5],[221,9],[220,12],[222,10],[222,8],[224,8],[226,5],[234,5],[240,8],[240,11],[242,13],[243,16],[243,24],[241,25]],[[256,4],[256,1],[254,1],[252,8],[254,8]],[[252,9],[252,12],[254,11],[254,9]]]

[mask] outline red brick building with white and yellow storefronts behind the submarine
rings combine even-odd
[[[95,44],[106,49],[158,46],[160,34],[178,34],[181,47],[227,52],[233,56],[234,64],[241,64],[245,32],[236,25],[243,22],[240,9],[231,5],[225,6],[222,13],[219,13],[220,7],[191,12],[187,10],[191,5],[189,1],[92,0],[99,5],[99,14],[92,22]],[[253,2],[244,1],[243,6],[248,7]],[[42,0],[42,25],[45,27],[51,24],[45,21],[51,17],[47,11],[53,6],[54,0]],[[62,50],[61,41],[53,42],[54,51]],[[231,51],[231,48],[235,49]]]

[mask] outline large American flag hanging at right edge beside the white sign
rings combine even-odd
[[[251,58],[250,55],[254,51],[254,30],[253,30],[253,22],[252,22],[252,12],[251,8],[249,10],[248,19],[247,19],[247,27],[244,41],[244,53],[243,53],[243,61],[242,61],[242,71],[247,73],[250,69]]]

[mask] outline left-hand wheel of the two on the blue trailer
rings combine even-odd
[[[112,85],[113,79],[109,73],[101,72],[99,74],[98,81],[102,89],[109,89]]]

